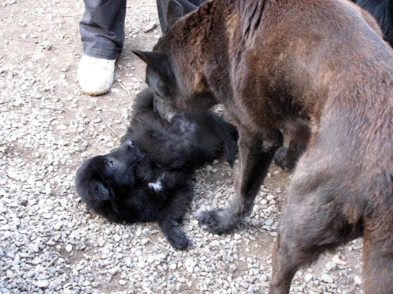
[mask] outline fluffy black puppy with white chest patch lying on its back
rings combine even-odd
[[[171,122],[153,110],[146,89],[133,105],[133,119],[122,144],[87,159],[75,188],[81,199],[111,221],[157,221],[168,242],[186,248],[178,225],[193,196],[193,172],[224,154],[232,166],[237,129],[211,111],[181,113]]]

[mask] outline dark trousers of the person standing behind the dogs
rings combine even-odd
[[[184,12],[191,12],[205,0],[177,0]],[[168,0],[156,0],[161,30],[165,34]],[[127,0],[84,0],[85,11],[79,25],[84,53],[90,57],[117,59],[124,44]]]

